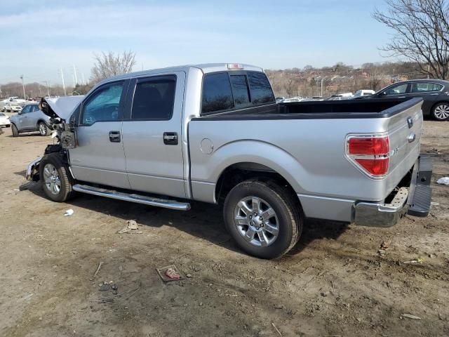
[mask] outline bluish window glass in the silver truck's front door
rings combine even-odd
[[[81,124],[91,125],[95,121],[118,121],[119,104],[123,82],[107,84],[93,93],[86,103],[83,103]]]

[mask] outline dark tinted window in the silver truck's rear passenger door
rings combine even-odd
[[[170,119],[175,103],[175,77],[139,79],[135,86],[131,119]]]

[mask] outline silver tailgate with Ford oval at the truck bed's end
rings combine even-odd
[[[391,108],[403,111],[390,117],[387,124],[391,154],[387,178],[389,191],[398,185],[420,155],[423,124],[421,106],[422,99],[416,98]]]

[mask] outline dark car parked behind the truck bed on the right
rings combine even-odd
[[[449,81],[442,79],[413,79],[387,86],[374,95],[358,99],[391,99],[422,97],[422,114],[437,121],[449,120]]]

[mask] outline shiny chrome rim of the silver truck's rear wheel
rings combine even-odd
[[[267,201],[259,197],[245,197],[237,203],[234,223],[243,239],[253,246],[269,246],[279,236],[276,212]]]

